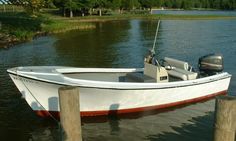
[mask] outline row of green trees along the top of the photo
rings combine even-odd
[[[41,8],[59,8],[64,16],[106,14],[108,10],[124,11],[151,10],[152,8],[167,9],[221,9],[235,10],[236,0],[10,0],[11,3],[22,5],[31,13]]]

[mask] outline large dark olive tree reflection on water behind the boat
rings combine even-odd
[[[128,22],[97,23],[95,30],[59,34],[60,40],[55,44],[57,54],[67,61],[64,64],[71,66],[112,67],[120,49],[114,45],[129,38]]]

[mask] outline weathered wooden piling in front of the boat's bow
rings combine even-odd
[[[79,88],[59,88],[63,141],[82,141]]]

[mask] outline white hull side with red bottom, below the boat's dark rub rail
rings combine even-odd
[[[59,115],[58,89],[63,84],[39,81],[10,73],[17,88],[40,116]],[[205,83],[161,88],[79,87],[81,116],[142,112],[198,102],[226,94],[230,77]],[[50,113],[50,114],[49,114]]]

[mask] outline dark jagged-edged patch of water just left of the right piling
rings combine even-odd
[[[214,112],[208,112],[204,116],[192,118],[191,123],[185,123],[181,127],[172,126],[175,132],[163,132],[161,134],[148,135],[149,141],[212,141]]]

